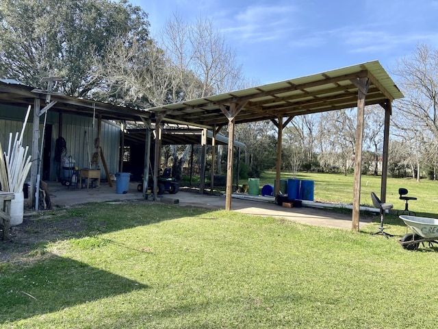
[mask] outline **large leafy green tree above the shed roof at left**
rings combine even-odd
[[[112,38],[149,39],[147,14],[126,0],[1,0],[0,22],[1,77],[45,87],[52,73],[77,97],[96,86],[93,56],[103,58]]]

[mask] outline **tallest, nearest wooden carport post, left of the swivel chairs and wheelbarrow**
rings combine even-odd
[[[363,118],[365,112],[365,98],[368,93],[370,80],[368,77],[361,77],[356,82],[359,87],[357,95],[357,124],[355,143],[355,186],[353,191],[352,230],[359,231],[359,215],[361,204],[361,170],[362,170],[362,139],[363,139]]]

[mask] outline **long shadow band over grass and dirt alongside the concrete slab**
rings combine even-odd
[[[21,225],[12,228],[11,240],[0,243],[0,264],[44,249],[47,243],[96,236],[208,211],[211,210],[152,202],[90,203],[51,211],[50,216],[25,218]]]

